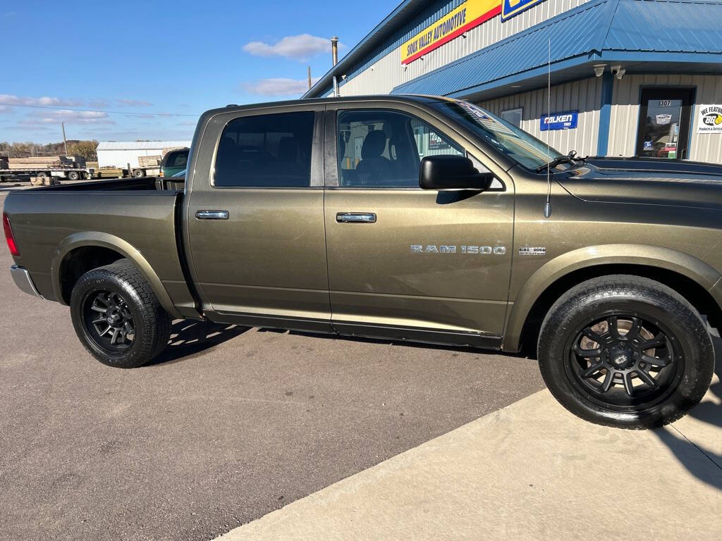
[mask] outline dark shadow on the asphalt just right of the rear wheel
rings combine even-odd
[[[165,351],[146,366],[171,364],[203,353],[210,348],[242,335],[249,327],[212,323],[207,321],[181,320],[170,329],[170,342]]]

